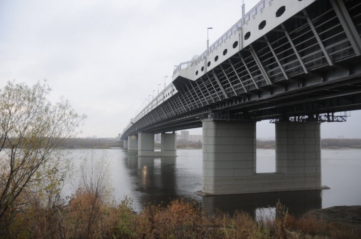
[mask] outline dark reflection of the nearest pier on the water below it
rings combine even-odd
[[[322,208],[321,190],[207,196],[203,197],[202,206],[209,214],[217,209],[230,215],[236,210],[242,210],[255,217],[259,216],[257,214],[262,209],[268,211],[269,208],[274,208],[278,200],[296,217],[310,210]]]

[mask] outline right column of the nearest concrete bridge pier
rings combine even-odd
[[[320,127],[319,122],[276,122],[276,173],[288,175],[283,189],[321,187]]]

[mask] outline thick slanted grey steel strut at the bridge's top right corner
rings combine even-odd
[[[346,9],[345,4],[340,0],[330,0],[330,2],[343,27],[343,30],[346,33],[348,40],[351,43],[353,50],[357,56],[361,55],[361,39],[358,35],[355,24],[353,24],[352,19]]]

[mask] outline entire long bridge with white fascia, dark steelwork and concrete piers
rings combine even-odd
[[[175,156],[174,131],[203,127],[202,193],[322,188],[321,122],[361,109],[360,7],[356,0],[262,0],[242,11],[130,120],[125,148]],[[260,120],[275,123],[275,173],[256,173]]]

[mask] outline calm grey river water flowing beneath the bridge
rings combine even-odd
[[[100,155],[103,150],[94,150]],[[90,150],[73,150],[79,157]],[[133,200],[133,209],[142,211],[148,203],[168,203],[175,198],[200,202],[204,209],[215,208],[232,214],[243,210],[256,215],[274,210],[279,199],[290,213],[299,216],[312,209],[340,205],[361,205],[361,149],[323,149],[322,185],[327,190],[303,190],[243,195],[201,197],[202,150],[178,149],[177,157],[137,157],[137,152],[107,149],[114,197]],[[275,171],[275,150],[257,149],[257,173]],[[67,190],[68,191],[68,190]],[[68,191],[69,192],[69,191]]]

